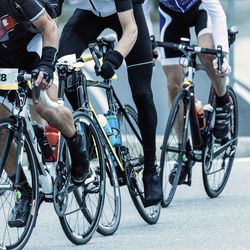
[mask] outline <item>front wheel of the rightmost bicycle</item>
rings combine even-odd
[[[181,152],[181,148],[185,148],[187,134],[183,125],[185,124],[185,95],[185,92],[181,91],[174,100],[161,147],[160,175],[162,178],[163,207],[169,206],[174,197],[182,168],[183,153]],[[179,125],[180,122],[181,125]],[[182,142],[182,144],[180,144],[180,142]],[[173,169],[175,169],[175,175],[171,184],[169,182],[169,175]]]

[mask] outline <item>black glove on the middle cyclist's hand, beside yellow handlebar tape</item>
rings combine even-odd
[[[108,52],[103,59],[100,75],[104,79],[111,78],[115,74],[115,69],[118,69],[122,65],[122,62],[123,56],[120,52],[117,50]]]

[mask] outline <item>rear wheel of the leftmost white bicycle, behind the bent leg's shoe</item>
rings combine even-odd
[[[81,187],[69,186],[66,209],[59,219],[68,239],[81,245],[92,238],[100,220],[105,195],[105,163],[102,144],[92,119],[83,112],[75,112],[73,116],[76,128],[86,135],[92,177]],[[62,140],[59,161],[64,162],[66,168],[71,164],[65,140]]]

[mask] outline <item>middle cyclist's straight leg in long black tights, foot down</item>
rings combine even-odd
[[[159,203],[162,199],[161,182],[155,165],[157,113],[151,89],[152,45],[141,5],[133,5],[133,10],[139,27],[138,38],[125,61],[128,67],[128,78],[133,100],[138,110],[138,125],[144,150],[143,182],[145,204],[149,206]],[[119,24],[117,15],[112,16],[109,21],[109,28],[116,31],[120,38],[122,28],[120,25],[115,25]]]

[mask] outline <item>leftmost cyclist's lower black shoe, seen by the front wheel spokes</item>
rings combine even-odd
[[[31,187],[25,182],[20,184],[21,187],[19,191],[21,192],[21,198],[15,203],[15,207],[12,209],[8,225],[10,227],[24,227],[28,221],[31,207]]]

